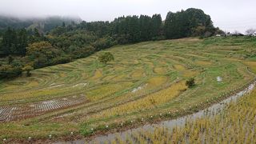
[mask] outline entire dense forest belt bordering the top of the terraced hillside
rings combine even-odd
[[[222,32],[213,26],[209,15],[192,8],[169,12],[165,21],[160,14],[122,16],[113,22],[62,22],[61,26],[49,27],[46,31],[49,32],[44,33],[36,27],[28,29],[23,24],[2,30],[0,78],[12,78],[22,71],[71,62],[118,44],[209,37]]]

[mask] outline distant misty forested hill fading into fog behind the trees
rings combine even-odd
[[[0,31],[5,30],[6,28],[22,29],[26,28],[27,30],[33,30],[37,28],[39,31],[46,33],[56,26],[62,26],[63,22],[66,25],[82,22],[80,18],[71,18],[71,17],[59,17],[52,16],[46,18],[16,18],[13,16],[3,16],[0,15]]]

